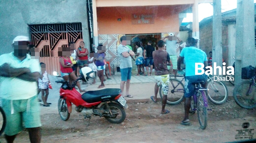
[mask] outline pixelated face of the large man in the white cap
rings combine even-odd
[[[19,56],[19,57],[24,57],[27,55],[27,46],[28,46],[27,41],[15,41],[13,46],[14,46],[14,55]]]

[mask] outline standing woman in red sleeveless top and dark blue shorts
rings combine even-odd
[[[88,67],[88,54],[89,52],[87,48],[85,48],[85,42],[81,41],[77,53],[79,69],[81,69],[82,67]],[[82,81],[82,84],[85,84],[85,82]]]

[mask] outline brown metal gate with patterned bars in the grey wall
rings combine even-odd
[[[49,74],[57,71],[60,74],[58,47],[66,47],[75,42],[76,48],[82,41],[82,23],[56,23],[28,25],[30,40],[39,48],[39,61],[46,63]]]

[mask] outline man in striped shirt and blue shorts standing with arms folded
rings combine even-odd
[[[131,56],[134,56],[135,53],[128,48],[127,44],[130,44],[132,37],[122,36],[120,38],[121,44],[117,47],[117,55],[120,61],[120,71],[121,71],[121,84],[120,88],[122,95],[124,95],[124,84],[126,82],[126,97],[132,98],[132,95],[129,94],[130,80],[132,76],[132,59]]]

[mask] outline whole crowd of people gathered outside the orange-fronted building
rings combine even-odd
[[[120,38],[121,44],[117,47],[117,56],[120,61],[121,71],[121,94],[123,97],[130,97],[130,80],[132,74],[132,59],[137,57],[135,64],[138,68],[137,76],[152,76],[152,69],[154,65],[155,81],[154,96],[150,98],[157,102],[157,93],[159,86],[163,86],[163,99],[161,114],[170,113],[165,109],[167,102],[167,94],[169,91],[169,70],[168,65],[172,65],[174,75],[176,78],[177,70],[182,69],[182,63],[186,63],[183,68],[186,68],[185,75],[185,104],[184,104],[184,119],[180,124],[189,124],[189,108],[191,96],[194,92],[193,82],[204,80],[205,86],[207,76],[195,75],[195,63],[203,63],[206,67],[208,60],[206,53],[200,50],[197,46],[198,38],[188,38],[185,46],[180,45],[180,55],[177,58],[176,44],[182,40],[174,34],[163,37],[157,42],[158,49],[152,46],[152,42],[148,41],[144,48],[141,42],[135,42],[136,53],[126,45],[131,44],[131,38],[122,36]],[[13,39],[13,52],[0,55],[0,96],[2,98],[2,108],[7,116],[7,126],[5,129],[5,138],[7,142],[14,141],[17,134],[24,128],[28,129],[31,142],[39,143],[41,141],[41,120],[40,108],[38,104],[37,95],[41,92],[41,99],[44,107],[49,107],[51,103],[47,102],[49,95],[50,80],[46,71],[46,64],[39,63],[39,51],[34,45],[31,45],[29,38],[26,36],[17,36]],[[98,73],[100,85],[98,88],[103,88],[104,71],[107,79],[105,52],[106,47],[102,44],[98,46],[97,52],[89,51],[84,47],[85,43],[80,42],[80,46],[76,49],[75,43],[70,42],[68,47],[60,47],[58,50],[59,63],[61,67],[61,77],[70,83],[78,78],[78,67],[89,66],[95,74]],[[175,51],[175,52],[174,52]],[[41,66],[41,67],[40,67]],[[144,66],[147,74],[145,74]],[[96,80],[90,84],[95,84]],[[80,83],[74,83],[78,90],[86,92],[81,89]],[[84,84],[84,83],[83,83]],[[29,90],[24,90],[29,87]],[[124,87],[126,92],[124,93]]]

